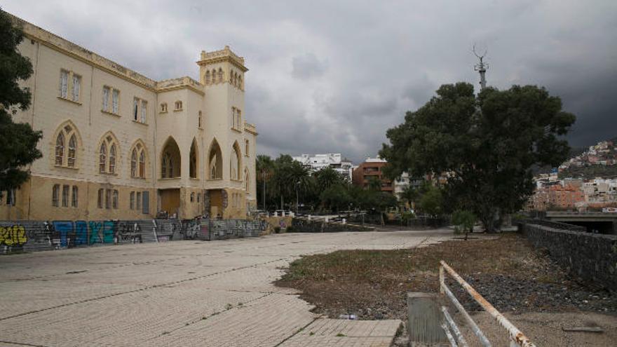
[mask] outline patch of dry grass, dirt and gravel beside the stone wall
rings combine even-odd
[[[437,292],[442,259],[500,311],[617,311],[617,297],[570,278],[516,233],[407,250],[312,255],[293,261],[276,285],[301,290],[317,313],[332,318],[405,320],[405,294]],[[450,287],[470,311],[479,309],[460,286]]]

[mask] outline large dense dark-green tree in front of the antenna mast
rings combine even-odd
[[[388,130],[380,155],[390,177],[449,172],[447,210],[470,210],[494,231],[533,193],[531,168],[567,158],[562,135],[575,119],[544,88],[485,88],[476,96],[469,83],[447,84]]]

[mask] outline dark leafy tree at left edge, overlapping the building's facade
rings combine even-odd
[[[42,156],[36,149],[41,132],[28,123],[13,122],[18,110],[28,109],[31,96],[19,84],[32,74],[32,64],[17,49],[22,39],[22,31],[0,9],[0,193],[26,182],[25,167]]]

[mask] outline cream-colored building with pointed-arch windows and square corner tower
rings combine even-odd
[[[28,22],[34,73],[15,116],[42,130],[32,177],[0,219],[245,218],[255,206],[255,125],[245,121],[243,57],[201,52],[199,81],[154,81]]]

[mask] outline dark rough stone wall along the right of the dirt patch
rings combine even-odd
[[[520,224],[524,236],[548,250],[551,259],[570,273],[617,292],[617,236]]]

